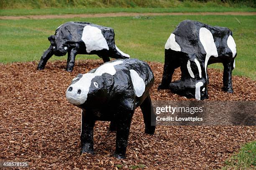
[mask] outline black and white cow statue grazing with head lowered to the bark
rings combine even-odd
[[[235,68],[236,43],[228,28],[184,20],[165,44],[164,73],[158,89],[188,98],[208,98],[207,66],[223,63],[223,90],[233,93],[232,70]],[[180,67],[181,80],[172,82],[174,69]]]

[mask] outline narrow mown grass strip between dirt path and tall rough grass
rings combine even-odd
[[[256,12],[251,7],[225,7],[225,6],[190,6],[175,8],[46,8],[46,9],[1,9],[2,15],[60,15],[60,14],[83,14],[83,13],[173,13],[173,12]]]

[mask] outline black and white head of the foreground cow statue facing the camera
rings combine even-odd
[[[109,99],[113,82],[113,76],[108,73],[78,74],[67,88],[67,100],[81,108],[99,108]]]

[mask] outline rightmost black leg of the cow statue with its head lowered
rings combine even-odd
[[[223,62],[224,70],[223,70],[223,91],[228,93],[233,93],[232,88],[232,70],[234,60]]]

